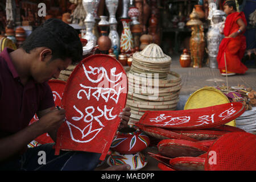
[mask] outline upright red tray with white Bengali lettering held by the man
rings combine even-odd
[[[55,154],[59,150],[96,152],[104,160],[126,97],[127,77],[119,61],[102,54],[82,60],[64,90],[66,121],[58,130]]]

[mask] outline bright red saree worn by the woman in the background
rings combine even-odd
[[[241,18],[245,24],[245,14],[243,12],[229,14],[226,18],[224,35],[229,36],[233,32],[238,31],[240,28],[237,24],[237,20]],[[242,32],[243,34],[244,32]],[[246,49],[246,39],[242,34],[236,36],[236,38],[224,38],[218,48],[218,69],[220,72],[225,70],[225,57],[226,53],[226,67],[228,72],[244,74],[247,71],[247,67],[241,63],[241,59]]]

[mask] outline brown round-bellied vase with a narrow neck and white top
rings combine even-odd
[[[101,53],[108,54],[109,49],[111,48],[111,40],[108,37],[108,29],[109,29],[109,22],[106,20],[108,16],[100,16],[101,20],[98,23],[98,26],[101,30],[101,36],[98,38],[98,49]]]

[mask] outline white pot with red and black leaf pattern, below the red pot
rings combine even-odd
[[[147,159],[141,152],[136,154],[119,154],[119,152],[113,152],[107,163],[109,166],[129,164],[131,166],[131,171],[137,171],[147,164]]]

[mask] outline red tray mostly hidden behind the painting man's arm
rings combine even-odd
[[[61,99],[63,96],[63,92],[65,89],[66,82],[61,80],[49,80],[48,84],[52,90],[53,100],[55,103],[55,106],[61,107]],[[38,121],[38,116],[35,114],[34,117],[31,119],[31,123]],[[40,135],[37,137],[36,142],[40,144],[46,144],[46,143],[54,143],[52,138],[49,137],[47,133]]]

